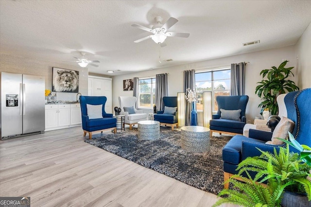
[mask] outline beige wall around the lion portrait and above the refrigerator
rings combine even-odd
[[[0,54],[0,71],[45,76],[45,89],[50,90],[52,89],[52,67],[79,71],[79,92],[82,95],[87,95],[87,68]],[[57,100],[73,101],[76,100],[76,95],[77,93],[57,92]]]

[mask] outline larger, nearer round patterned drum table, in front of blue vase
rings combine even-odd
[[[191,153],[204,153],[209,151],[209,131],[209,128],[203,126],[181,127],[181,148]]]

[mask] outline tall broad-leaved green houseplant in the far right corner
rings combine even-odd
[[[277,115],[278,106],[276,102],[276,97],[279,94],[292,92],[299,90],[299,87],[291,80],[287,80],[291,74],[294,67],[285,68],[287,64],[285,60],[278,68],[275,66],[272,69],[263,69],[260,72],[262,75],[262,81],[257,82],[259,85],[256,87],[255,93],[261,98],[262,102],[258,105],[261,107],[261,112],[265,108],[269,108],[271,115]],[[266,80],[264,78],[266,77]]]

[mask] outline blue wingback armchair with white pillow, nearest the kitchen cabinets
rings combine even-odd
[[[92,139],[92,132],[113,129],[117,132],[117,119],[105,112],[105,96],[80,96],[82,129]]]

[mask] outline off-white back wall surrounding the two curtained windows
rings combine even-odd
[[[177,92],[183,91],[183,71],[188,69],[210,69],[223,66],[230,66],[231,63],[249,62],[246,65],[245,72],[245,95],[249,96],[249,102],[246,108],[247,120],[254,121],[255,116],[259,116],[260,109],[257,107],[260,103],[260,98],[255,94],[255,88],[257,82],[261,81],[259,73],[262,69],[270,69],[272,66],[279,66],[283,59],[287,59],[290,62],[288,67],[296,66],[296,56],[294,52],[294,46],[266,50],[260,52],[251,52],[241,55],[235,55],[230,57],[224,57],[213,60],[206,60],[202,62],[196,62],[191,64],[185,64],[180,66],[166,67],[161,69],[146,70],[131,74],[119,75],[112,77],[112,105],[119,106],[119,96],[133,96],[133,91],[123,91],[122,81],[124,79],[131,79],[133,77],[150,77],[159,73],[169,73],[168,87],[169,96],[176,96]],[[293,69],[293,73],[296,73],[296,68]],[[296,76],[291,80],[296,82]],[[296,83],[297,84],[297,83]],[[152,110],[150,110],[151,112]],[[199,114],[199,124],[202,125],[202,116]]]

